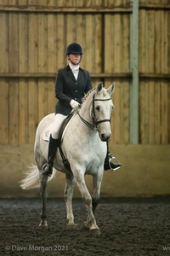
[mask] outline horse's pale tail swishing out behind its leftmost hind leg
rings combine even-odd
[[[48,177],[48,181],[50,181],[55,175]],[[22,189],[37,189],[40,187],[40,172],[37,169],[37,166],[30,166],[29,171],[26,173],[26,177],[20,181],[20,187]]]

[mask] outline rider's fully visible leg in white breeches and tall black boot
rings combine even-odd
[[[65,115],[59,113],[54,117],[54,125],[48,144],[48,162],[42,166],[42,174],[51,176],[53,172],[54,158],[57,152],[57,148],[59,147],[59,128],[65,118]]]

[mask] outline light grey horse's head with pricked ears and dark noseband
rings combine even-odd
[[[111,94],[114,90],[114,83],[108,89],[105,89],[103,83],[99,83],[94,92],[92,115],[102,142],[111,137],[111,110],[114,108]]]

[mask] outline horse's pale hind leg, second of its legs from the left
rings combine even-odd
[[[65,174],[66,181],[65,181],[65,206],[66,206],[66,214],[67,214],[67,220],[68,228],[75,227],[74,223],[74,215],[72,212],[72,195],[74,191],[74,177],[72,173]]]

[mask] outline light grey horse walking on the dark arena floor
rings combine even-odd
[[[115,84],[106,89],[103,83],[97,84],[87,95],[82,98],[80,108],[74,111],[69,123],[65,126],[62,135],[61,147],[68,160],[71,170],[65,168],[63,160],[57,150],[54,160],[54,172],[65,173],[65,205],[67,227],[75,227],[74,215],[72,212],[72,196],[74,185],[77,184],[82,195],[88,219],[83,227],[88,230],[100,233],[96,224],[94,212],[100,199],[100,188],[104,174],[104,162],[107,154],[106,142],[111,138],[111,111],[114,108],[111,94],[115,90]],[[40,226],[47,227],[46,197],[47,183],[54,177],[42,174],[42,166],[48,158],[48,142],[44,141],[42,134],[47,131],[48,126],[53,123],[54,113],[45,116],[37,126],[34,158],[36,166],[32,166],[25,179],[21,181],[22,189],[33,189],[40,187],[42,200],[42,212]],[[93,192],[90,195],[85,183],[85,175],[93,176]]]

